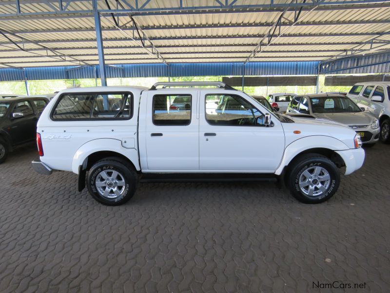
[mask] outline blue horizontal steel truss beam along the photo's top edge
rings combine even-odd
[[[69,0],[71,1],[71,0]],[[80,1],[80,0],[76,0]],[[82,0],[81,0],[82,1]],[[124,1],[124,0],[122,0]],[[137,1],[137,0],[136,0]],[[2,1],[0,2],[0,5],[17,5],[18,0],[16,1]],[[126,1],[124,1],[126,2]],[[147,1],[148,2],[148,1]],[[150,15],[152,13],[156,13],[161,15],[162,13],[203,13],[207,12],[209,10],[238,10],[238,9],[284,9],[284,8],[295,8],[295,7],[303,7],[303,11],[305,9],[311,9],[314,6],[321,5],[323,7],[337,7],[337,5],[340,6],[351,6],[356,5],[359,6],[361,4],[364,5],[370,5],[370,6],[379,6],[381,4],[388,4],[389,0],[314,0],[314,1],[308,1],[306,3],[302,3],[299,1],[292,1],[290,3],[274,3],[273,0],[267,0],[264,1],[264,3],[261,4],[250,4],[250,5],[242,5],[237,4],[237,1],[232,1],[229,3],[229,1],[225,1],[225,3],[221,2],[223,5],[215,2],[215,1],[208,1],[206,3],[209,3],[208,5],[203,6],[185,6],[183,5],[183,1],[180,1],[180,4],[176,4],[177,1],[173,1],[172,3],[175,3],[174,5],[169,5],[170,2],[167,1],[168,5],[167,7],[149,7],[147,5],[142,5],[141,7],[133,7],[131,5],[127,5],[127,7],[118,8],[118,9],[98,9],[98,7],[94,7],[92,9],[82,9],[80,10],[67,10],[67,11],[61,11],[56,10],[55,6],[50,3],[58,3],[58,0],[24,0],[23,4],[27,3],[37,3],[37,4],[43,4],[41,7],[41,11],[39,12],[24,12],[20,13],[19,15],[22,16],[32,16],[32,15],[53,15],[53,14],[79,14],[79,13],[93,13],[94,11],[98,10],[100,13],[132,13],[132,15]],[[184,1],[184,4],[187,1]],[[189,3],[192,3],[190,1]],[[165,4],[165,3],[164,3]],[[1,9],[0,9],[1,10]],[[15,9],[16,12],[16,9]],[[18,13],[1,13],[0,17],[7,17],[7,16],[16,16]]]

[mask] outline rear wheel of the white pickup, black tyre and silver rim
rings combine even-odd
[[[101,160],[87,174],[89,193],[107,206],[119,206],[130,200],[136,186],[137,173],[125,162]]]

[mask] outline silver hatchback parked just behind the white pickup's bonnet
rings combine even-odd
[[[351,127],[366,146],[379,140],[379,121],[362,111],[350,98],[339,94],[312,94],[296,96],[287,108],[287,114],[308,114],[317,119],[330,120]]]

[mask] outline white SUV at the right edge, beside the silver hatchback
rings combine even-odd
[[[390,143],[390,82],[359,83],[347,94],[362,110],[379,119],[379,138]]]

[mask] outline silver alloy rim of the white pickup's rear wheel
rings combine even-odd
[[[108,199],[121,196],[125,190],[125,185],[122,174],[114,170],[101,171],[95,181],[98,193]]]

